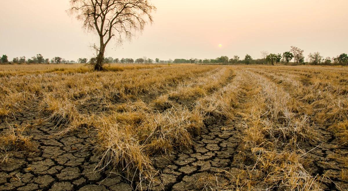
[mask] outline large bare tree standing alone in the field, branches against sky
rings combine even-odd
[[[115,37],[118,42],[123,38],[131,39],[137,31],[142,32],[147,24],[152,23],[152,11],[156,10],[149,0],[70,0],[71,15],[84,22],[83,26],[99,35],[100,46],[97,51],[95,70],[103,69],[106,45]]]

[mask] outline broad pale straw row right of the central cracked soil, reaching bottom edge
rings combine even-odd
[[[302,166],[301,145],[319,141],[310,128],[306,113],[294,113],[296,103],[275,83],[261,75],[248,72],[256,85],[246,86],[249,98],[240,113],[244,124],[240,151],[235,161],[245,161],[263,172],[268,189],[321,190],[317,177],[311,176]]]

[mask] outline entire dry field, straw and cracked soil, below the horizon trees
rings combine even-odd
[[[0,65],[0,190],[347,190],[347,76]]]

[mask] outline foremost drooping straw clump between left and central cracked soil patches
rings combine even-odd
[[[132,130],[121,124],[102,121],[98,124],[98,149],[102,151],[96,169],[123,167],[121,171],[139,171],[141,178],[151,179],[153,167]]]

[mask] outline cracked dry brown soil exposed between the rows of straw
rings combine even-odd
[[[260,74],[272,82],[272,78]],[[230,76],[225,85],[233,77]],[[302,83],[304,86],[310,85],[308,81]],[[284,88],[283,84],[277,85]],[[160,93],[143,95],[142,99],[149,103],[159,95]],[[192,109],[197,99],[172,101]],[[251,97],[247,93],[238,95],[240,104],[249,101]],[[267,188],[263,180],[256,178],[258,176],[250,176],[244,171],[247,166],[253,166],[254,161],[246,159],[244,163],[238,163],[239,160],[235,159],[240,150],[238,147],[242,144],[239,134],[244,123],[243,116],[239,114],[235,114],[233,120],[210,117],[204,121],[205,128],[201,134],[193,137],[195,143],[191,148],[175,150],[168,155],[152,156],[151,160],[158,174],[154,178],[155,182],[149,186],[148,183],[139,184],[132,174],[118,174],[114,169],[97,171],[95,167],[100,158],[96,152],[95,132],[59,134],[62,129],[56,123],[42,120],[48,115],[42,114],[37,104],[23,108],[13,117],[0,119],[2,133],[8,131],[8,126],[27,126],[23,135],[30,137],[33,144],[32,150],[11,152],[7,162],[0,164],[0,190],[179,191]],[[89,109],[98,111],[102,110],[102,106],[90,106]],[[328,130],[334,122],[318,122],[315,120],[315,113],[309,116],[309,120],[321,141],[317,145],[308,144],[305,147],[308,163],[304,165],[313,176],[325,175],[320,181],[323,189],[348,190],[348,175],[344,174],[348,172],[347,161],[344,161],[348,149]],[[241,182],[243,178],[250,181]]]

